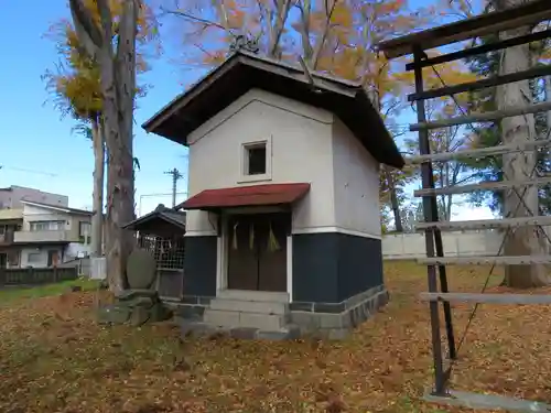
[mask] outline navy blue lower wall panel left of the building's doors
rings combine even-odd
[[[217,237],[185,237],[184,295],[216,295]]]

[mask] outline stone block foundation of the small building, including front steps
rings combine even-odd
[[[296,339],[305,335],[343,339],[389,300],[382,285],[341,303],[289,304],[280,297],[255,300],[258,297],[236,294],[187,296],[185,303],[172,304],[183,334],[224,333],[241,339]]]

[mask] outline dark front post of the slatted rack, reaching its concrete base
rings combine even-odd
[[[415,94],[423,91],[423,73],[419,63],[423,56],[422,51],[415,51],[414,53],[414,75],[415,75]],[[423,123],[426,121],[426,115],[424,109],[424,101],[417,101],[417,116],[418,123]],[[430,153],[430,141],[428,130],[419,131],[419,152],[421,155],[426,155]],[[421,181],[423,188],[434,187],[434,177],[432,171],[432,163],[425,162],[421,164]],[[435,196],[423,196],[423,216],[425,222],[431,222],[437,220],[437,208]],[[433,228],[428,228],[424,231],[426,257],[434,257],[434,232]],[[429,292],[437,292],[437,279],[436,279],[436,267],[428,265],[426,268],[428,281],[429,281]],[[443,371],[442,362],[442,343],[440,339],[440,314],[439,314],[439,303],[429,303],[430,314],[431,314],[431,333],[432,333],[432,352],[434,360],[434,378],[435,388],[434,394],[444,395],[445,394],[445,378]]]

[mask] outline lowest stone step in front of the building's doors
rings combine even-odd
[[[219,327],[249,327],[279,330],[287,325],[287,316],[260,313],[242,313],[207,308],[204,322]]]

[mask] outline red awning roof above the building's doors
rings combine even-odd
[[[223,209],[231,207],[291,204],[310,191],[310,184],[269,184],[235,188],[206,189],[183,202],[183,209]]]

